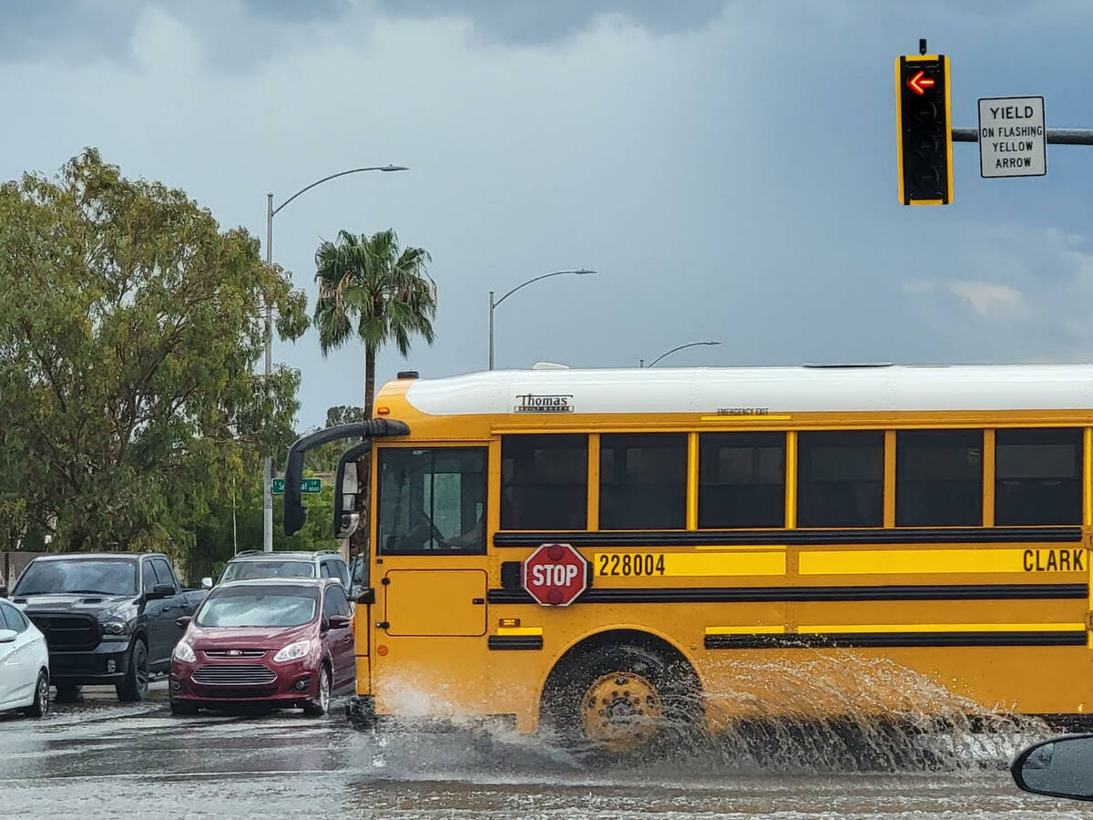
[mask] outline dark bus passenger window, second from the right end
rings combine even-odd
[[[895,441],[896,526],[983,524],[982,430],[901,430]]]

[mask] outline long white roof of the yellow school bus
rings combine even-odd
[[[1093,365],[492,371],[414,380],[406,398],[432,415],[1083,410]]]

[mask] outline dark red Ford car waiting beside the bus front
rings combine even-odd
[[[355,677],[352,606],[336,578],[222,584],[192,618],[171,659],[171,711],[268,704],[325,715]]]

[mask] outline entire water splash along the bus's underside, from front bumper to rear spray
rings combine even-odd
[[[1004,766],[1026,742],[1050,734],[1039,718],[986,708],[890,658],[815,651],[811,656],[733,661],[731,670],[718,670],[715,677],[728,684],[702,694],[710,730],[670,726],[671,742],[639,757],[613,759],[589,746],[574,747],[549,727],[536,736],[519,735],[510,724],[462,708],[455,687],[423,691],[390,680],[386,691],[399,717],[388,719],[384,733],[414,734],[423,726],[460,733],[465,762],[473,768],[486,763],[503,769],[534,758],[555,771],[710,776],[973,773]],[[378,757],[383,766],[386,755]]]

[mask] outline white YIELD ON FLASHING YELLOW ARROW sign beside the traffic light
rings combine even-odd
[[[980,176],[1044,176],[1046,173],[1044,97],[980,99]]]

